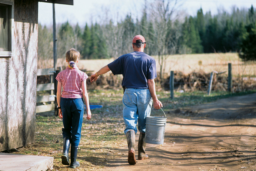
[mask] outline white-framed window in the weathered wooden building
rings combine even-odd
[[[12,2],[0,0],[0,57],[12,54]]]

